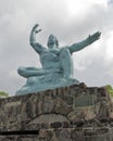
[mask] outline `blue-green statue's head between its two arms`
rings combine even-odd
[[[53,48],[54,46],[58,48],[59,47],[59,41],[58,41],[55,36],[50,35],[49,38],[48,38],[48,47]]]

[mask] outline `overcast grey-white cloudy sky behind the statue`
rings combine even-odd
[[[38,23],[37,41],[47,46],[48,36],[70,46],[101,31],[101,38],[73,54],[74,77],[89,87],[113,85],[113,0],[1,0],[0,91],[13,95],[26,81],[18,66],[41,67],[29,46],[29,33]]]

